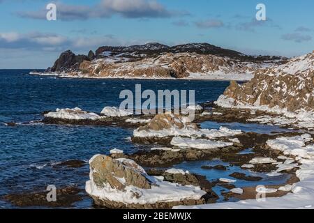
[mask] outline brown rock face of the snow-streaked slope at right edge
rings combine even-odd
[[[231,82],[224,95],[234,105],[267,105],[288,112],[314,110],[314,53],[290,59],[281,66],[259,70],[246,84]]]

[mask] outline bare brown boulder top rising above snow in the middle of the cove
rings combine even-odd
[[[157,114],[147,125],[140,127],[138,130],[169,130],[170,128],[183,129],[186,127],[187,118],[176,114]],[[189,123],[190,128],[197,129],[195,124]]]

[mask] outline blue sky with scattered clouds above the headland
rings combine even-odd
[[[57,20],[46,18],[47,4]],[[257,3],[266,21],[257,21]],[[0,0],[0,69],[52,66],[103,45],[210,43],[253,55],[314,50],[314,1]]]

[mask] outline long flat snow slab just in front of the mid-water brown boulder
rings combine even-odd
[[[190,139],[182,137],[174,137],[170,144],[172,144],[172,146],[178,146],[179,148],[197,149],[223,148],[233,145],[232,142],[212,141],[210,139]]]

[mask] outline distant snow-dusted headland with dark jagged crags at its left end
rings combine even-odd
[[[204,78],[225,74],[230,78],[251,79],[262,66],[282,59],[274,56],[247,56],[208,43],[190,43],[169,47],[159,43],[130,47],[99,47],[96,54],[75,56],[67,51],[61,54],[47,72],[63,72],[67,77],[98,78]],[[205,75],[205,76],[202,76]]]

